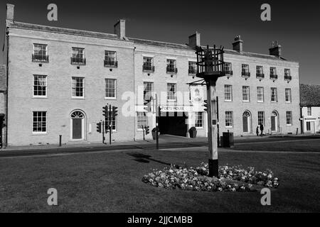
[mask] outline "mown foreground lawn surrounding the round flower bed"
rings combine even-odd
[[[220,152],[220,164],[270,168],[280,179],[272,206],[259,192],[187,192],[151,187],[142,177],[169,163],[196,166],[199,150],[137,150],[0,159],[1,212],[309,212],[320,211],[320,155]],[[58,206],[48,206],[49,188]]]

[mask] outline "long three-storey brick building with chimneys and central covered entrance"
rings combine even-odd
[[[106,104],[119,111],[112,140],[141,140],[142,127],[156,126],[155,94],[161,133],[188,136],[196,126],[204,137],[206,86],[197,82],[195,63],[200,45],[200,33],[188,45],[128,38],[123,20],[114,34],[20,23],[7,4],[2,140],[56,144],[62,135],[63,143],[99,142],[96,123]],[[238,36],[233,50],[225,50],[227,75],[217,82],[220,134],[252,135],[260,123],[265,133],[296,133],[299,64],[284,59],[277,43],[270,55],[242,45]]]

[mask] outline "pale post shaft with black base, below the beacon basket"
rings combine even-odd
[[[218,121],[215,82],[215,79],[208,79],[207,81],[209,177],[218,177]]]

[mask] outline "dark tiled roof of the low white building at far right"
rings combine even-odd
[[[320,85],[300,84],[300,105],[320,106]]]

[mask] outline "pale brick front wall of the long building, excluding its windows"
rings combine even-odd
[[[11,14],[10,14],[11,15]],[[13,18],[13,16],[12,16]],[[187,128],[195,125],[196,112],[203,113],[203,127],[198,127],[198,136],[208,133],[206,112],[203,106],[193,109],[189,101],[188,83],[196,82],[197,77],[188,74],[188,62],[196,61],[192,43],[200,43],[200,34],[191,36],[189,45],[161,43],[151,40],[139,40],[125,37],[125,23],[117,23],[115,34],[76,31],[65,28],[51,28],[6,21],[9,32],[9,92],[8,92],[8,143],[9,145],[57,144],[59,135],[63,143],[100,142],[102,135],[96,131],[96,123],[102,120],[102,106],[112,104],[118,107],[116,131],[112,140],[141,140],[142,130],[137,126],[137,112],[144,110],[144,82],[154,83],[154,92],[159,94],[161,106],[183,106],[188,116]],[[32,61],[33,44],[48,46],[49,62],[39,65]],[[86,65],[70,64],[72,48],[84,48]],[[105,50],[117,52],[117,67],[105,67]],[[152,57],[154,72],[143,72],[143,57]],[[176,60],[178,72],[166,73],[166,60]],[[235,50],[225,51],[225,62],[231,62],[233,76],[218,79],[217,94],[219,97],[220,133],[231,131],[235,135],[255,134],[257,112],[265,112],[265,133],[271,133],[272,111],[278,114],[277,132],[295,133],[300,128],[299,122],[299,64],[271,55],[251,54]],[[250,67],[251,77],[241,76],[241,65]],[[265,79],[255,77],[257,65],[264,67]],[[276,67],[278,79],[269,78],[269,68]],[[284,69],[290,69],[292,80],[284,80]],[[43,98],[33,96],[33,75],[46,75],[47,95]],[[72,77],[84,77],[85,95],[83,99],[74,99]],[[116,99],[105,98],[105,79],[117,79]],[[184,92],[183,100],[170,104],[166,100],[167,84],[176,84],[178,92]],[[224,100],[224,86],[233,86],[233,100]],[[242,101],[242,86],[250,87],[250,102]],[[257,102],[257,87],[264,87],[265,101]],[[277,88],[277,103],[270,101],[270,88]],[[291,89],[292,101],[284,100],[284,89]],[[203,86],[206,99],[206,87]],[[164,96],[161,96],[164,94]],[[181,93],[182,94],[182,93]],[[46,133],[33,133],[33,111],[46,111]],[[73,140],[74,111],[81,111],[82,139]],[[233,127],[225,127],[225,111],[233,112]],[[243,133],[242,115],[250,113],[250,131]],[[286,112],[292,112],[292,124],[286,123]],[[156,126],[155,114],[146,111],[147,124]],[[146,136],[151,138],[151,133]],[[108,136],[107,136],[108,138]]]

